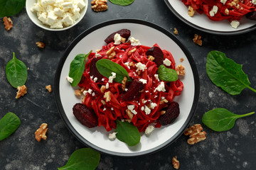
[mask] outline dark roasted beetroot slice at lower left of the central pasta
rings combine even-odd
[[[98,125],[97,115],[82,103],[76,103],[73,106],[73,114],[87,128],[94,128]]]

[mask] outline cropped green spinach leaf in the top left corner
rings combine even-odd
[[[26,0],[0,0],[0,17],[19,13],[25,4]]]

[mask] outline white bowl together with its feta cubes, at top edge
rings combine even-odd
[[[27,0],[26,12],[37,26],[60,31],[79,23],[87,6],[87,0]]]

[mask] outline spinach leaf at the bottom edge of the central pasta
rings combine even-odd
[[[117,120],[117,128],[115,132],[117,132],[117,139],[130,147],[137,145],[140,141],[139,130],[136,126],[132,125],[132,123]]]

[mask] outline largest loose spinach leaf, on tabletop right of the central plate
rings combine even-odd
[[[252,89],[250,81],[242,71],[242,65],[235,63],[223,52],[211,51],[207,55],[206,72],[213,84],[219,86],[228,94],[237,95],[245,88]]]

